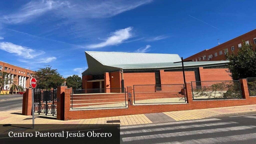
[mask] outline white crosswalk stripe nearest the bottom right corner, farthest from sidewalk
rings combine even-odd
[[[255,139],[256,133],[249,133],[243,135],[235,135],[235,136],[226,136],[226,137],[216,137],[216,138],[203,138],[203,139],[191,139],[184,141],[174,141],[174,142],[163,142],[163,143],[155,143],[155,144],[215,144],[215,143],[224,143],[224,142],[238,142],[241,140],[251,140]]]

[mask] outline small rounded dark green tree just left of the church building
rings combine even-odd
[[[82,79],[78,75],[69,76],[66,78],[66,85],[74,89],[82,88]]]

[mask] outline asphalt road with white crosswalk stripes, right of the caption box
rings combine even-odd
[[[256,115],[121,127],[125,144],[255,144]]]

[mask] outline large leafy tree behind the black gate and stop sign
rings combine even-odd
[[[57,69],[39,68],[33,74],[34,78],[37,80],[37,86],[41,89],[49,89],[54,85],[62,85],[65,79],[58,73]]]

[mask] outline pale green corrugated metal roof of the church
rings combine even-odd
[[[88,69],[82,75],[97,75],[121,69],[155,69],[177,68],[182,63],[179,55],[175,54],[142,54],[116,52],[85,52]],[[225,64],[229,61],[194,61],[184,62],[185,67]]]

